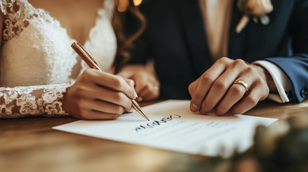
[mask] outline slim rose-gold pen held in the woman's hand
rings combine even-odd
[[[91,57],[91,55],[78,43],[78,42],[74,42],[71,47],[77,52],[77,54],[90,66],[90,68],[92,69],[97,69],[99,71],[102,71],[101,69],[99,69],[97,63],[95,62],[95,60]],[[142,115],[145,119],[147,119],[148,121],[149,118],[146,116],[146,114],[142,111],[141,107],[139,106],[139,104],[137,103],[137,101],[135,100],[131,100],[132,102],[132,107],[140,114]]]

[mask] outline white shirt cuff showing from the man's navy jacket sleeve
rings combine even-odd
[[[292,91],[293,87],[291,84],[290,79],[284,72],[277,67],[274,63],[271,63],[266,60],[258,60],[254,61],[252,64],[258,64],[265,68],[273,77],[274,83],[276,85],[278,95],[277,94],[272,94],[268,96],[268,99],[284,103],[284,102],[289,102],[289,98],[287,97],[285,91]]]

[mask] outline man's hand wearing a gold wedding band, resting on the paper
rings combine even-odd
[[[188,90],[192,112],[207,114],[214,110],[218,116],[242,114],[267,98],[269,90],[277,91],[265,69],[226,57],[218,59]]]

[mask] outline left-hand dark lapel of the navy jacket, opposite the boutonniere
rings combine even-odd
[[[208,69],[212,62],[207,44],[203,18],[198,0],[174,0],[177,18],[190,53],[192,68],[197,76]]]

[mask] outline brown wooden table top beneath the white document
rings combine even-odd
[[[263,101],[245,114],[287,120],[308,115],[308,101],[299,104]],[[0,172],[182,171],[183,162],[199,158],[52,129],[74,121],[77,119],[71,117],[0,120]]]

